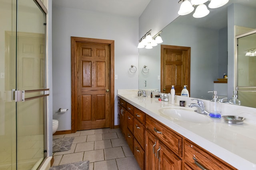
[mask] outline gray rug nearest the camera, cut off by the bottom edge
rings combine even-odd
[[[49,170],[89,170],[89,160],[59,166],[52,166]]]

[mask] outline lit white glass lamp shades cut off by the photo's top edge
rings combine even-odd
[[[209,8],[219,8],[221,6],[224,6],[226,3],[228,3],[229,0],[179,0],[178,3],[182,3],[180,5],[180,10],[178,11],[178,14],[180,16],[190,14],[194,11],[194,7],[196,7],[196,10],[193,14],[194,18],[202,18],[207,16],[210,11],[208,10],[207,6],[204,4],[205,2],[210,1],[210,4],[208,5]]]

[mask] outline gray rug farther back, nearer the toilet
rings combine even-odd
[[[74,137],[52,139],[52,152],[64,152],[70,150]]]

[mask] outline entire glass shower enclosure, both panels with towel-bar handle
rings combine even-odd
[[[0,0],[0,169],[46,158],[46,13],[39,1]]]

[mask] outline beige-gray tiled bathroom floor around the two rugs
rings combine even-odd
[[[77,131],[53,139],[62,137],[74,137],[74,141],[70,150],[53,154],[53,166],[89,160],[90,170],[140,170],[120,129]]]

